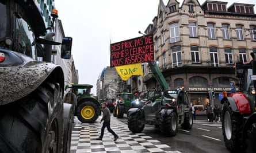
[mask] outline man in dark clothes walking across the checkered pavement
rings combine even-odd
[[[109,108],[106,107],[106,103],[101,103],[101,107],[102,107],[102,112],[103,112],[103,116],[102,119],[100,120],[100,123],[102,121],[102,127],[101,127],[101,135],[99,136],[99,138],[96,138],[96,140],[102,140],[103,135],[104,135],[104,130],[105,128],[108,129],[108,131],[114,136],[114,142],[119,138],[119,136],[110,128],[110,111]]]

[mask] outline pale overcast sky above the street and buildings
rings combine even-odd
[[[168,1],[163,0],[165,5]],[[205,1],[198,2],[202,5]],[[256,4],[255,0],[223,2],[228,2],[227,6],[234,2]],[[158,5],[159,0],[55,0],[65,36],[73,38],[72,55],[79,83],[92,84],[96,95],[97,79],[110,65],[110,40],[114,43],[142,36],[138,32],[144,32],[152,23]]]

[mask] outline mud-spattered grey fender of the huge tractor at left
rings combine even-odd
[[[39,87],[56,67],[59,67],[55,64],[33,60],[23,54],[14,52],[10,54],[22,62],[8,65],[0,63],[0,105],[11,103],[28,95]]]

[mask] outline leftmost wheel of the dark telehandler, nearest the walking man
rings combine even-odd
[[[128,128],[133,133],[140,133],[143,131],[145,124],[136,115],[129,115],[128,117]]]

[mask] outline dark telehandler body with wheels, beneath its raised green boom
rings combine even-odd
[[[161,99],[145,104],[142,108],[131,108],[128,112],[128,128],[133,133],[142,132],[145,125],[155,125],[162,134],[175,136],[178,124],[184,130],[193,126],[188,94],[184,88],[166,90]]]

